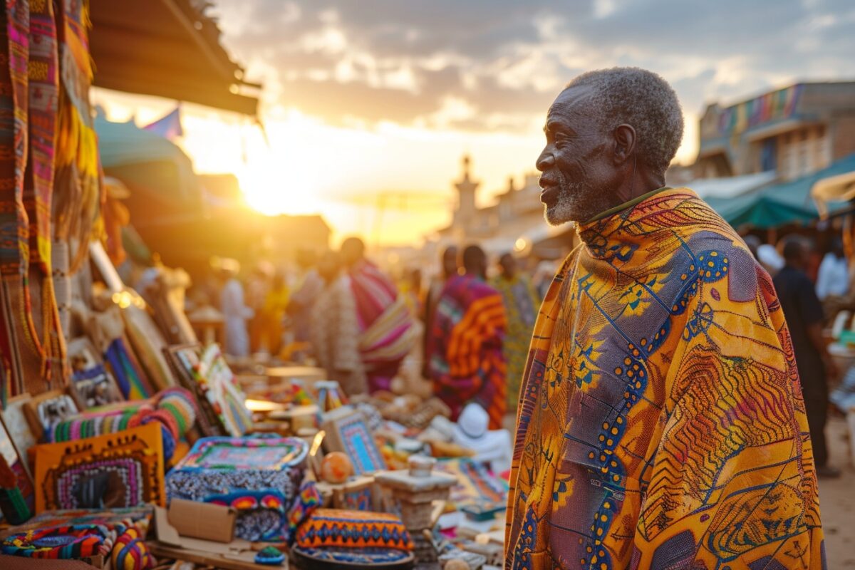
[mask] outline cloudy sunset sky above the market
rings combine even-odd
[[[855,79],[852,0],[215,0],[209,14],[264,85],[265,128],[184,105],[179,143],[197,170],[236,173],[265,213],[321,212],[337,238],[384,244],[447,224],[464,153],[481,203],[534,171],[546,109],[589,69],[667,79],[686,119],[684,164],[707,103]],[[175,106],[95,100],[139,124]]]

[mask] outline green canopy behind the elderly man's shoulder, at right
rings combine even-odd
[[[853,170],[855,155],[791,182],[765,186],[737,197],[709,198],[707,202],[734,227],[765,229],[788,224],[808,224],[819,217],[817,205],[811,198],[811,186],[818,180]],[[831,212],[834,213],[834,208]]]

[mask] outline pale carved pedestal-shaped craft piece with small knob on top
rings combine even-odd
[[[432,457],[413,455],[409,471],[378,473],[375,477],[400,504],[401,520],[416,539],[417,555],[422,563],[437,560],[433,544],[422,537],[422,531],[433,527],[433,501],[447,499],[451,487],[457,483],[456,477],[434,472],[435,464]]]

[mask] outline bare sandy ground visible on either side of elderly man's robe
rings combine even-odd
[[[511,432],[514,421],[513,416],[505,418],[505,427]],[[846,420],[828,420],[826,436],[831,463],[843,471],[840,479],[821,479],[819,482],[828,568],[855,568],[855,467],[849,451]]]

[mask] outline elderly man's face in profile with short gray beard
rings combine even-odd
[[[537,160],[540,201],[552,226],[586,221],[616,205],[613,138],[593,117],[589,87],[561,92],[546,115],[546,145]]]

